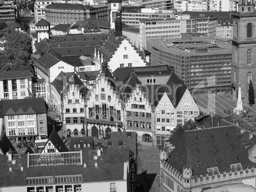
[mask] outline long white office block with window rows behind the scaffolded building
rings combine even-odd
[[[140,20],[139,46],[146,48],[146,39],[181,38],[182,33],[215,36],[217,17],[190,17],[180,13],[176,18]]]

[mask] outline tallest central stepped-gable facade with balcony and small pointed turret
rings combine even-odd
[[[116,81],[103,63],[96,78],[96,85],[90,90],[86,102],[86,132],[96,139],[108,137],[111,132],[123,130],[122,102],[119,100]]]

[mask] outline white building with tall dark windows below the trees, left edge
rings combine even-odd
[[[28,70],[0,72],[0,99],[32,97],[32,76]]]

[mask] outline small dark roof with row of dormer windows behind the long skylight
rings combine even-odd
[[[80,147],[78,147],[80,144]],[[90,144],[90,147],[88,146]],[[76,145],[76,147],[74,147]],[[80,151],[83,149],[93,149],[94,139],[92,137],[70,137],[69,138],[69,151]]]

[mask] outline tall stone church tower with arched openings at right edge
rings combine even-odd
[[[232,13],[232,97],[237,99],[239,83],[241,99],[248,103],[250,79],[256,88],[256,11],[255,0],[239,0],[238,8]]]

